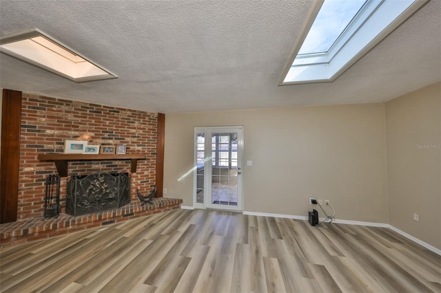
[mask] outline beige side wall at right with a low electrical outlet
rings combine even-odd
[[[441,249],[441,83],[387,102],[386,122],[389,224]]]

